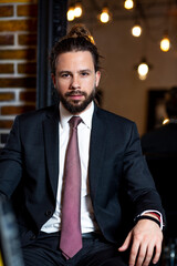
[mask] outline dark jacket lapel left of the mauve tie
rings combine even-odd
[[[45,160],[54,198],[59,180],[59,109],[43,121]]]

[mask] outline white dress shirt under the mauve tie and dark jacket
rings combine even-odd
[[[90,197],[88,186],[88,153],[90,153],[90,139],[92,129],[92,116],[94,112],[94,104],[80,114],[82,123],[77,126],[79,135],[79,151],[81,160],[81,172],[82,172],[82,185],[81,185],[81,227],[82,233],[88,233],[97,229],[97,224],[94,221],[94,212]],[[59,184],[58,184],[58,196],[56,196],[56,208],[53,216],[42,226],[41,231],[46,233],[53,233],[61,229],[61,202],[63,192],[63,177],[64,177],[64,161],[65,152],[70,137],[70,125],[69,121],[73,115],[69,113],[60,103],[60,146],[59,146]]]

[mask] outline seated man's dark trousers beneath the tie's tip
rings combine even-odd
[[[22,248],[25,266],[127,266],[128,256],[118,253],[114,244],[102,236],[85,234],[83,248],[65,259],[60,248],[60,233],[40,233],[38,238]]]

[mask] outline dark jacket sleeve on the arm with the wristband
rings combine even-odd
[[[134,123],[124,154],[124,176],[127,194],[135,206],[135,215],[146,209],[156,209],[164,214],[160,196],[142,154],[140,140]]]

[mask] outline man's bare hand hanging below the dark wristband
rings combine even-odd
[[[156,264],[162,253],[163,233],[159,226],[149,219],[140,219],[127,235],[118,252],[125,252],[132,244],[129,266],[148,266],[152,258]],[[154,257],[153,257],[154,255]]]

